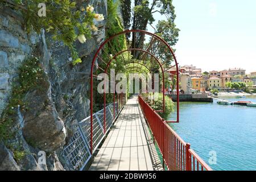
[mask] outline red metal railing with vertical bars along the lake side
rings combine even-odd
[[[139,105],[150,126],[154,142],[158,144],[163,155],[163,166],[166,164],[171,171],[212,171],[190,148],[190,144],[185,143],[141,96],[139,96]]]

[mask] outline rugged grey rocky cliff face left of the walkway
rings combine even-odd
[[[106,19],[106,0],[92,0],[83,5],[88,4]],[[75,43],[82,58],[82,63],[75,67],[63,43],[53,41],[44,30],[40,35],[27,35],[23,23],[17,11],[0,6],[0,114],[5,114],[19,77],[18,68],[24,60],[35,55],[45,74],[40,89],[30,90],[23,98],[30,109],[17,111],[13,126],[17,132],[14,139],[7,141],[8,146],[15,144],[26,152],[17,160],[17,154],[6,142],[0,142],[0,170],[69,169],[69,164],[61,159],[61,149],[72,136],[77,121],[88,116],[90,67],[105,38],[106,22],[96,22],[98,31],[86,43]],[[46,152],[46,163],[39,162],[39,151]]]

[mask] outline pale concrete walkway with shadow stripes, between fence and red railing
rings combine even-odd
[[[123,107],[91,171],[163,170],[137,99],[132,96]]]

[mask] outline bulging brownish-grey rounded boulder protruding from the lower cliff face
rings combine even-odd
[[[23,114],[23,136],[40,150],[52,152],[64,146],[66,131],[52,103],[51,85],[47,78],[41,86],[41,89],[28,93],[24,99],[31,109]]]

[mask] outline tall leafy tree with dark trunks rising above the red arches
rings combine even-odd
[[[179,28],[176,28],[174,20],[176,18],[172,0],[153,0],[149,3],[147,0],[135,0],[133,11],[133,25],[135,30],[146,30],[147,24],[155,22],[154,15],[159,13],[163,15],[166,20],[160,20],[156,26],[156,34],[163,37],[164,40],[171,46],[177,43],[179,36]],[[144,41],[144,34],[133,33],[131,42],[132,47],[142,47]],[[163,49],[162,52],[165,50]],[[138,57],[139,52],[135,52],[134,57]],[[167,55],[166,55],[167,56]]]

